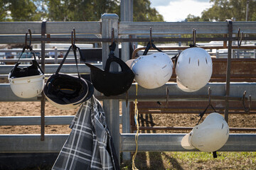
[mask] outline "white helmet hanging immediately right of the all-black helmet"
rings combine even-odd
[[[142,55],[132,62],[135,81],[145,89],[156,89],[171,78],[174,64],[164,52]]]

